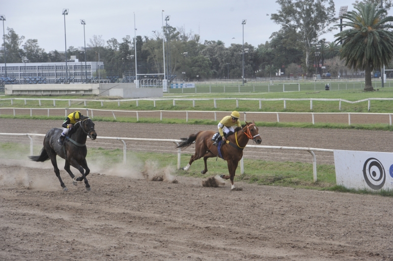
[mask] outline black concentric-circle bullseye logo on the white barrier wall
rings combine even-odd
[[[373,190],[379,190],[385,185],[386,173],[384,166],[375,158],[369,158],[363,166],[365,182]]]

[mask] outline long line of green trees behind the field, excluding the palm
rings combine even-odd
[[[312,77],[314,73],[330,72],[337,76],[342,70],[350,73],[358,67],[347,64],[342,57],[339,41],[326,42],[323,34],[332,32],[339,25],[335,16],[333,0],[276,0],[280,5],[271,20],[281,29],[272,33],[269,41],[258,46],[245,43],[244,73],[246,78],[278,76]],[[357,0],[354,7],[378,0]],[[384,0],[385,10],[392,6],[392,0]],[[374,4],[376,5],[376,4]],[[378,8],[377,8],[378,9]],[[19,36],[12,28],[7,28],[5,47],[7,63],[21,63],[25,58],[31,63],[64,62],[64,53],[57,50],[45,52],[39,47],[37,39]],[[336,35],[338,37],[338,34]],[[135,71],[135,45],[138,73],[163,73],[163,37],[165,38],[166,74],[169,71],[177,80],[196,81],[203,79],[241,79],[243,46],[225,46],[221,40],[200,41],[200,36],[184,28],[163,28],[154,32],[153,37],[129,35],[120,41],[111,38],[105,41],[101,35],[89,39],[86,60],[98,61],[105,65],[106,76],[122,77],[125,71]],[[2,44],[4,45],[4,44]],[[3,51],[1,51],[3,52]],[[170,59],[169,55],[170,54]],[[187,53],[187,55],[185,55]],[[67,49],[67,59],[76,56],[84,62],[84,51],[74,46]],[[168,63],[170,60],[170,63]],[[4,57],[0,57],[0,63]],[[385,65],[391,63],[385,63]],[[325,66],[321,70],[319,66]],[[350,65],[349,67],[347,65]],[[315,69],[317,67],[317,69]],[[373,68],[378,69],[378,68]],[[182,74],[185,72],[185,74]]]

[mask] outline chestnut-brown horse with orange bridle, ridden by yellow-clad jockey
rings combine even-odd
[[[182,141],[176,146],[177,148],[187,148],[195,141],[195,154],[191,157],[188,165],[183,167],[184,170],[189,170],[194,161],[203,157],[205,169],[201,173],[205,174],[207,172],[207,159],[217,157],[218,155],[218,147],[213,145],[213,141],[211,141],[215,132],[214,130],[199,131],[196,134],[191,134],[188,138],[182,138]],[[224,179],[230,178],[230,183],[232,184],[231,189],[235,188],[233,178],[235,177],[237,165],[243,157],[243,149],[246,147],[249,139],[252,139],[257,144],[260,144],[262,141],[254,121],[252,123],[246,122],[242,128],[237,127],[235,134],[228,136],[227,142],[223,143],[221,147],[221,154],[223,159],[228,163],[229,170],[229,175],[221,175],[221,177]]]

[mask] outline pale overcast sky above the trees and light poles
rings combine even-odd
[[[337,13],[343,5],[352,10],[352,2],[336,0]],[[274,0],[1,0],[0,14],[6,18],[5,30],[13,28],[17,34],[24,35],[25,40],[37,39],[46,52],[64,51],[63,8],[69,9],[65,16],[67,48],[84,46],[80,19],[86,21],[86,45],[94,34],[102,35],[105,42],[111,38],[121,42],[126,35],[133,37],[134,12],[137,35],[149,37],[153,36],[152,31],[161,30],[162,13],[164,17],[170,15],[170,26],[198,33],[202,43],[222,40],[225,46],[241,44],[242,19],[247,19],[244,42],[255,47],[280,30],[280,26],[270,20],[270,14],[279,9]],[[332,41],[337,32],[325,35],[326,39]]]

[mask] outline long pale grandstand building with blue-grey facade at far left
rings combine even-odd
[[[73,58],[73,57],[72,57]],[[7,79],[14,83],[63,83],[66,78],[65,62],[56,63],[7,63]],[[68,82],[91,82],[104,69],[103,62],[79,62],[67,60]],[[86,75],[87,74],[87,75]],[[94,77],[93,77],[94,75]],[[0,64],[0,78],[5,77],[5,65]]]

